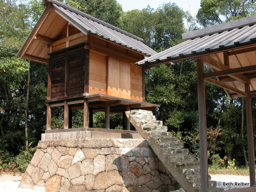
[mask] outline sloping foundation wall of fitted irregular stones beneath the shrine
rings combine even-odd
[[[177,182],[143,139],[39,141],[20,188],[46,192],[169,192]]]

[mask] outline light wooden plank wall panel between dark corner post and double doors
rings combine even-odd
[[[107,95],[107,56],[90,51],[89,93]]]

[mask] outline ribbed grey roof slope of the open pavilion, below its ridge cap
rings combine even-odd
[[[256,24],[190,39],[135,64],[154,65],[255,43]]]

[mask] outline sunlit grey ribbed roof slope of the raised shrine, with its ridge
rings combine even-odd
[[[66,4],[56,0],[50,0],[56,12],[62,17],[66,17],[72,24],[77,26],[85,34],[91,33],[108,41],[143,53],[147,56],[155,55],[153,49],[143,44],[140,37],[132,35],[120,28],[110,25],[102,20],[92,17],[84,12],[76,10]]]

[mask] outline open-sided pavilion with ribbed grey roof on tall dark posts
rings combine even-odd
[[[251,97],[256,96],[256,15],[182,34],[187,40],[137,62],[140,67],[196,59],[201,191],[208,191],[208,157],[204,81],[222,87],[230,99],[245,97],[250,185],[255,183]],[[204,64],[212,70],[204,73]]]

